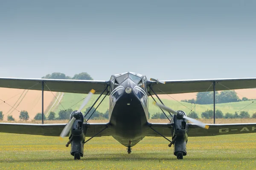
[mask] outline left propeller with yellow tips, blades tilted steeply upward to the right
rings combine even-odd
[[[95,90],[90,90],[90,92],[88,93],[88,96],[84,99],[84,102],[82,103],[82,105],[80,106],[78,112],[80,113],[81,110],[84,108],[84,106],[87,104],[87,102],[89,102],[90,100],[90,97],[95,93]],[[76,118],[73,117],[69,122],[68,124],[64,127],[64,129],[62,130],[61,132],[61,138],[64,138],[65,136],[67,136],[67,133],[70,132],[70,129],[73,125],[73,123],[75,122]]]

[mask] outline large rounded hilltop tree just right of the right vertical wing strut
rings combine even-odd
[[[237,102],[239,97],[234,90],[221,91],[221,93],[216,96],[218,103],[229,103],[229,102]]]

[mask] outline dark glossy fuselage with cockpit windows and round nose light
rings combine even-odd
[[[116,85],[110,94],[109,117],[112,136],[126,147],[140,142],[147,132],[148,95],[144,90],[146,84],[138,85],[135,82],[128,77]]]

